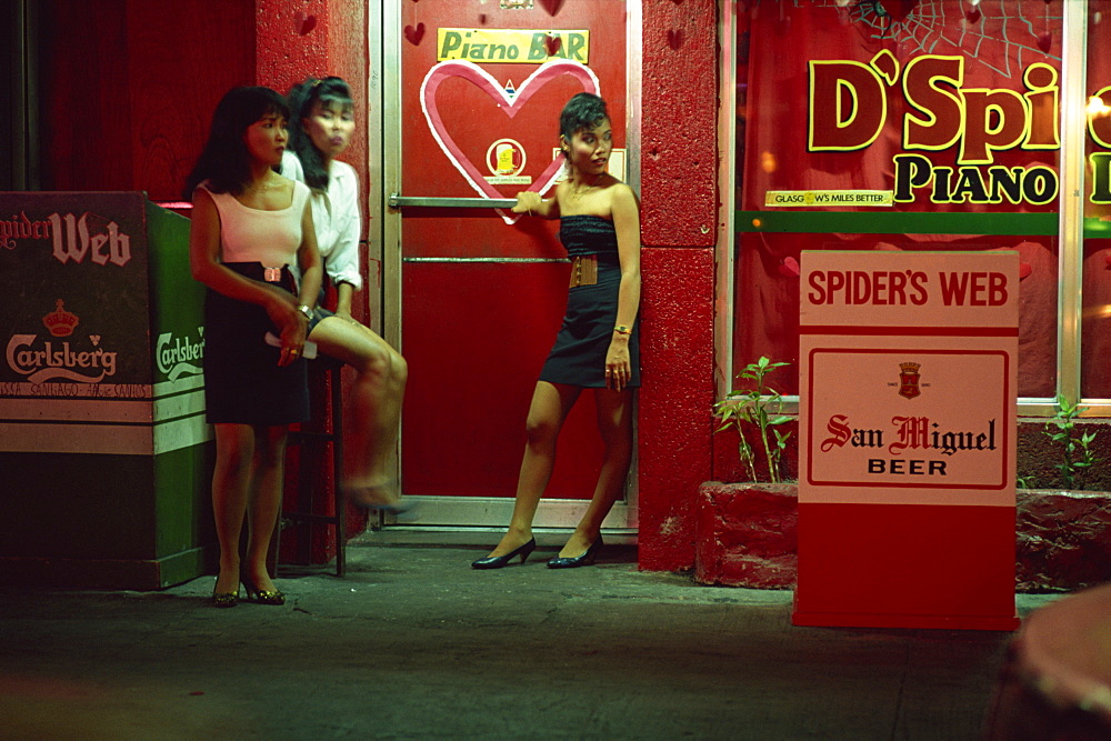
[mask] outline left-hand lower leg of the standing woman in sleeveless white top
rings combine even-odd
[[[254,433],[249,425],[216,425],[212,512],[220,543],[220,575],[214,591],[221,594],[239,591],[239,537],[247,513],[253,458]]]

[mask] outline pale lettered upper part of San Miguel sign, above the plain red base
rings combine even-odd
[[[800,500],[1013,505],[1014,253],[804,258]]]

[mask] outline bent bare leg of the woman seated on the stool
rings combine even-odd
[[[309,339],[356,371],[344,487],[382,489],[386,501],[396,500],[394,459],[409,367],[386,340],[353,319],[329,317]]]

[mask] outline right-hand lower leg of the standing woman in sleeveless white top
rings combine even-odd
[[[267,572],[270,539],[281,512],[282,490],[286,479],[284,427],[254,428],[254,460],[252,485],[248,507],[247,563],[243,574],[262,591],[273,591],[274,584]]]

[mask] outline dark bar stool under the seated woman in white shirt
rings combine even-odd
[[[301,425],[300,430],[290,431],[289,444],[301,447],[301,460],[298,464],[297,473],[297,510],[281,513],[281,529],[294,524],[323,524],[336,528],[336,575],[342,577],[347,570],[347,501],[340,482],[343,480],[343,384],[340,371],[343,363],[331,358],[321,356],[309,361],[309,388],[320,389],[326,382],[330,387],[328,397],[331,407],[331,414],[317,414],[311,422]],[[317,402],[318,393],[310,393]],[[311,425],[312,429],[306,429]],[[307,465],[306,451],[312,445],[328,445],[332,448],[332,497],[334,514],[317,514],[313,512],[313,502],[318,490],[318,481],[314,467]],[[312,540],[308,539],[304,548],[311,557]],[[306,562],[311,558],[306,558]]]

